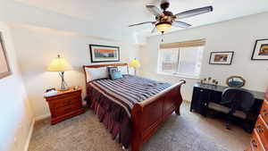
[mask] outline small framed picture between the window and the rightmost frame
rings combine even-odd
[[[232,56],[234,52],[226,51],[226,52],[211,52],[209,58],[209,64],[224,64],[230,65],[232,62]]]

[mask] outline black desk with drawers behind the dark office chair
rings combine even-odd
[[[211,112],[212,109],[208,108],[208,105],[210,103],[220,104],[220,101],[222,100],[222,91],[225,88],[228,87],[204,85],[198,82],[193,88],[190,111],[195,111],[205,116],[211,113],[215,113]],[[246,113],[246,120],[241,120],[234,117],[234,121],[239,123],[239,125],[241,125],[248,132],[251,132],[254,129],[255,122],[264,102],[264,92],[257,92],[252,90],[250,90],[250,92],[255,96],[255,104],[253,105],[252,109]]]

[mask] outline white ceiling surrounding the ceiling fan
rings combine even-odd
[[[16,0],[38,8],[61,13],[72,18],[98,24],[100,28],[150,36],[151,24],[129,28],[128,25],[142,21],[155,21],[145,7],[146,0]],[[154,0],[150,0],[151,2]],[[197,27],[219,21],[227,21],[249,14],[268,11],[268,0],[170,0],[169,11],[180,13],[189,9],[214,6],[213,13],[205,13],[184,19]],[[155,4],[157,1],[155,0]],[[157,4],[158,5],[158,4]],[[172,29],[174,30],[174,29]],[[116,34],[115,34],[116,36]]]

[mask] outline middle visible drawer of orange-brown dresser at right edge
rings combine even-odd
[[[260,136],[263,142],[264,148],[268,150],[268,126],[261,115],[259,115],[257,122],[255,123],[255,130]]]

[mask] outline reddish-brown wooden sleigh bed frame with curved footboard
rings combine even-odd
[[[127,63],[101,64],[101,65],[84,65],[86,68],[101,68],[107,66],[127,66]],[[87,75],[86,75],[87,76]],[[87,94],[88,94],[88,82]],[[180,80],[178,83],[163,89],[154,96],[148,97],[139,103],[136,103],[131,108],[130,123],[131,123],[131,151],[139,151],[142,144],[155,133],[155,131],[165,122],[173,113],[180,115],[180,104],[182,96],[180,87],[185,83],[185,80]],[[88,99],[88,101],[92,101]],[[91,102],[92,104],[92,102]]]

